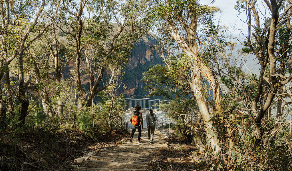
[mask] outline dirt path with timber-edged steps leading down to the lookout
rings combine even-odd
[[[142,130],[141,143],[138,143],[137,131],[132,143],[121,140],[75,159],[74,171],[151,170],[169,146],[164,134],[155,134],[154,143],[150,144],[146,131]]]

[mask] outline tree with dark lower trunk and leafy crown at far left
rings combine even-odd
[[[39,23],[39,17],[44,7],[45,0],[3,1],[1,3],[1,53],[3,55],[1,55],[0,76],[2,78],[4,72],[6,72],[6,84],[9,87],[8,66],[11,61],[17,58],[19,67],[18,100],[20,102],[20,121],[22,124],[25,123],[29,105],[29,101],[25,95],[28,84],[25,85],[23,54],[32,42],[38,39],[48,27],[44,23]]]

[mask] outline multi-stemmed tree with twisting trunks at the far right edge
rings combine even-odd
[[[277,101],[277,120],[281,120],[284,107],[290,103],[285,98],[291,98],[289,91],[283,87],[291,82],[291,1],[254,0],[237,1],[235,8],[246,12],[247,34],[245,35],[244,53],[254,54],[260,64],[258,85],[252,103],[247,106],[255,126],[256,142],[263,139],[267,128],[263,120],[270,119],[271,107]],[[267,13],[263,10],[267,8]],[[282,105],[284,102],[284,106]],[[275,124],[277,127],[277,124]],[[275,127],[274,127],[275,128]],[[273,131],[270,135],[275,134]]]

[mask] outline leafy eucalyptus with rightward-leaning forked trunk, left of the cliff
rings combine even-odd
[[[138,0],[80,1],[79,4],[63,1],[63,6],[68,15],[64,15],[62,26],[67,28],[58,27],[71,37],[70,45],[76,49],[75,77],[81,104],[91,105],[94,96],[112,84],[111,75],[108,79],[104,77],[109,64],[125,64],[133,43],[150,29],[149,8]],[[85,7],[93,13],[88,19],[82,15]],[[82,57],[89,74],[89,92],[82,88]]]

